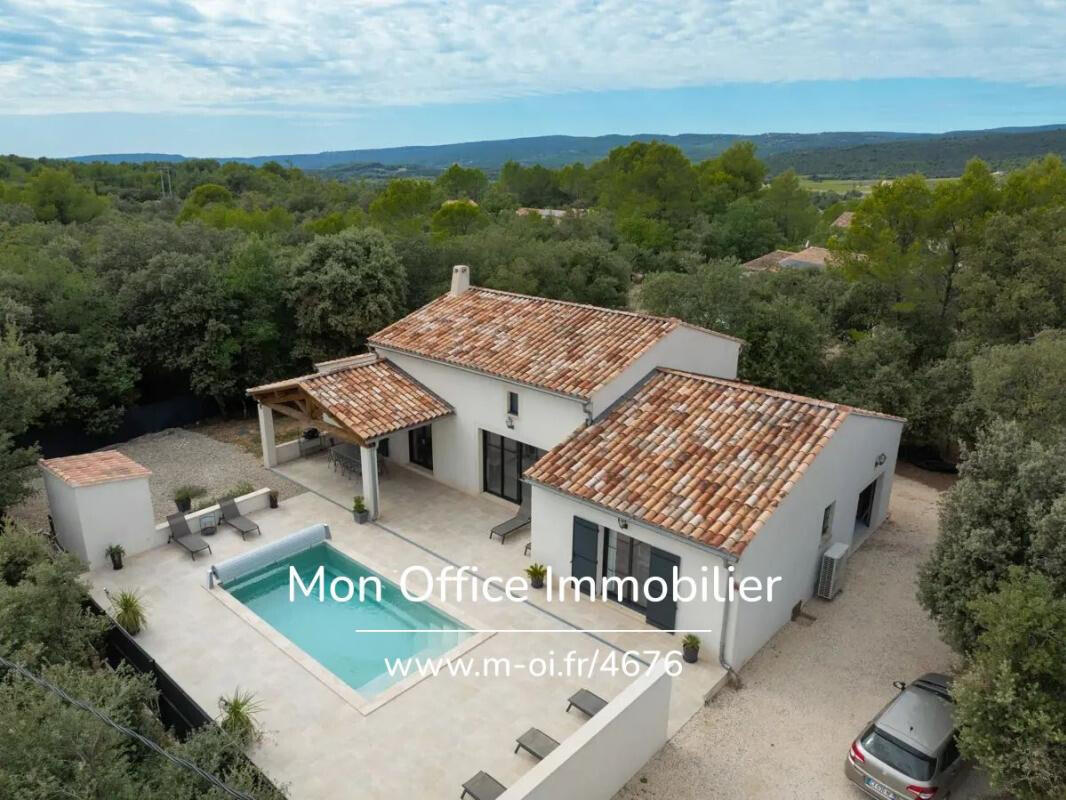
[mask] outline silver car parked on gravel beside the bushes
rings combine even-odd
[[[871,797],[944,800],[963,767],[951,679],[927,673],[907,685],[852,742],[844,773]]]

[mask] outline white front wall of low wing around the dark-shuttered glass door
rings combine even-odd
[[[603,566],[603,528],[611,528],[646,542],[652,547],[680,556],[680,575],[693,578],[698,583],[704,578],[708,581],[713,580],[714,574],[718,573],[720,586],[726,586],[726,566],[717,554],[685,542],[679,537],[662,533],[634,522],[628,523],[628,527],[623,530],[615,514],[544,486],[533,485],[533,519],[531,523],[533,546],[531,556],[533,561],[550,566],[555,576],[571,574],[570,558],[574,553],[575,516],[601,526],[596,547],[599,562],[597,574],[602,572]],[[713,596],[707,603],[697,601],[679,603],[676,628],[678,630],[715,631],[714,634],[700,634],[699,637],[706,652],[713,653],[713,657],[716,658],[718,652],[717,633],[722,630],[723,608],[724,605],[715,601]]]

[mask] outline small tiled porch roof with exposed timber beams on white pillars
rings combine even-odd
[[[373,353],[309,375],[248,389],[261,403],[308,425],[340,427],[360,444],[454,412],[402,369]]]

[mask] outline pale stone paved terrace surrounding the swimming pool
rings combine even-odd
[[[316,523],[325,523],[333,545],[393,580],[407,566],[421,564],[434,574],[447,563],[475,564],[479,574],[508,577],[529,563],[522,555],[528,533],[501,545],[489,541],[491,525],[513,509],[492,499],[471,497],[390,465],[382,478],[379,525],[357,525],[348,506],[356,481],[334,474],[324,459],[282,465],[278,471],[311,487],[284,500],[279,509],[252,514],[261,538],[242,541],[226,527],[211,541],[213,554],[192,561],[174,545],[127,560],[120,572],[95,571],[90,578],[96,598],[104,589],[138,589],[146,601],[148,626],[138,636],[142,646],[209,713],[217,699],[236,687],[256,692],[264,706],[266,729],[255,748],[255,762],[294,800],[364,798],[453,798],[463,781],[484,769],[510,785],[534,761],[514,754],[514,740],[535,725],[559,740],[577,731],[584,717],[565,713],[566,698],[587,687],[610,699],[630,678],[618,673],[534,678],[515,670],[511,677],[437,675],[416,683],[369,714],[302,667],[287,651],[261,634],[220,599],[224,590],[208,590],[211,563]],[[676,637],[651,631],[640,617],[614,604],[555,602],[543,592],[524,604],[451,602],[458,615],[485,627],[544,629],[540,634],[500,633],[467,653],[477,665],[483,657],[528,662],[574,650],[602,662],[617,649],[675,650]],[[591,636],[581,629],[634,633]],[[562,633],[562,631],[569,633]],[[635,633],[651,631],[651,633]],[[705,694],[724,674],[711,654],[687,665],[674,682],[669,732],[673,735],[701,706]]]

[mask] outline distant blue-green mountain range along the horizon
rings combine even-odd
[[[261,165],[268,161],[321,170],[338,177],[385,177],[404,172],[433,174],[453,163],[480,166],[489,172],[504,162],[562,166],[591,163],[615,147],[630,142],[658,140],[680,147],[694,161],[716,156],[730,144],[754,142],[771,172],[793,167],[802,175],[839,178],[894,177],[910,172],[930,176],[958,175],[970,158],[980,157],[996,169],[1008,169],[1047,153],[1066,155],[1066,125],[1037,128],[996,128],[948,133],[899,133],[858,131],[826,133],[639,133],[603,137],[530,137],[457,144],[330,150],[314,154],[281,154],[251,158],[220,157]],[[184,156],[160,153],[127,153],[77,156],[72,161],[112,163],[175,162]]]

